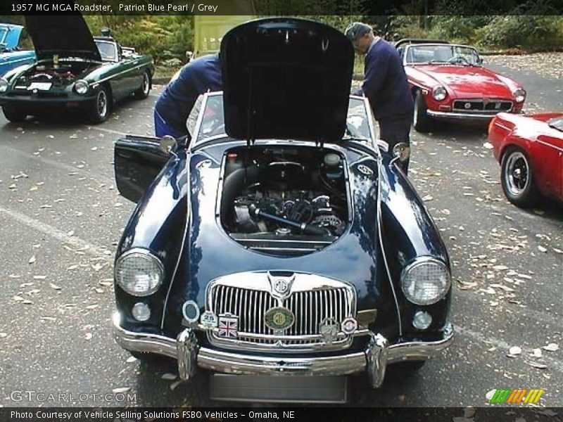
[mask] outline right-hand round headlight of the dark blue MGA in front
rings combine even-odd
[[[400,283],[407,300],[416,305],[431,305],[450,290],[450,271],[443,262],[424,257],[403,270]]]

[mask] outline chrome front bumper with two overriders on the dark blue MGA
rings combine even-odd
[[[372,387],[383,383],[387,364],[405,360],[436,357],[453,341],[453,326],[448,324],[443,337],[433,342],[409,342],[389,345],[381,334],[369,334],[363,352],[324,357],[270,357],[236,352],[222,352],[198,345],[191,328],[177,338],[164,335],[135,333],[122,328],[118,312],[113,315],[113,333],[125,350],[162,354],[178,360],[179,375],[189,380],[196,366],[220,373],[246,375],[320,375],[338,376],[367,371]]]

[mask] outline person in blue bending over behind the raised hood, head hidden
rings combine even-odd
[[[201,56],[172,77],[158,97],[154,107],[154,129],[159,138],[165,135],[179,138],[188,134],[186,120],[198,96],[208,91],[221,91],[219,56]]]

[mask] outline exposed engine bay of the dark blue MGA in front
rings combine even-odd
[[[236,148],[225,160],[221,220],[236,240],[248,235],[274,243],[314,238],[326,245],[346,231],[346,172],[338,153]]]

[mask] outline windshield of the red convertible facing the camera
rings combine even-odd
[[[480,65],[476,49],[467,46],[420,45],[407,50],[407,64],[450,63],[455,65]]]

